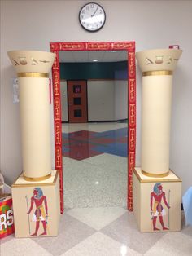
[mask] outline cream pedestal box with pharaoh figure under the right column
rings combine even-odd
[[[181,179],[170,170],[164,178],[133,170],[133,214],[141,232],[181,230]]]

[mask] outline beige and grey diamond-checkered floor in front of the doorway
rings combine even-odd
[[[59,236],[1,240],[2,256],[191,255],[192,227],[181,232],[140,233],[122,207],[78,208],[61,216]]]

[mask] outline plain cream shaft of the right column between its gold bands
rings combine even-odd
[[[169,171],[172,75],[142,77],[142,170]]]

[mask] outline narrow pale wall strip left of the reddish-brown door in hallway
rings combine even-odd
[[[67,81],[60,81],[61,90],[61,121],[68,121],[68,90]]]

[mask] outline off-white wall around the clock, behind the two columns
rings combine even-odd
[[[137,51],[179,44],[184,50],[174,73],[170,167],[191,186],[192,2],[97,1],[107,14],[97,33],[81,28],[78,13],[88,1],[1,1],[1,165],[12,183],[22,171],[20,114],[12,104],[15,72],[7,51],[50,51],[50,42],[136,41]],[[137,68],[137,165],[140,163],[141,72]],[[54,157],[53,157],[54,158]]]

